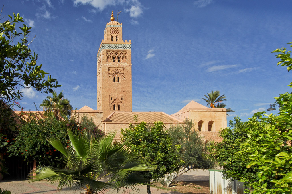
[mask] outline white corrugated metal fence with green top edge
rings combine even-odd
[[[209,170],[211,194],[244,194],[243,182],[223,179],[222,170]]]

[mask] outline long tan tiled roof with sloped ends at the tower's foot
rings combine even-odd
[[[164,112],[113,112],[105,119],[105,122],[133,122],[134,115],[138,116],[138,122],[181,122]]]

